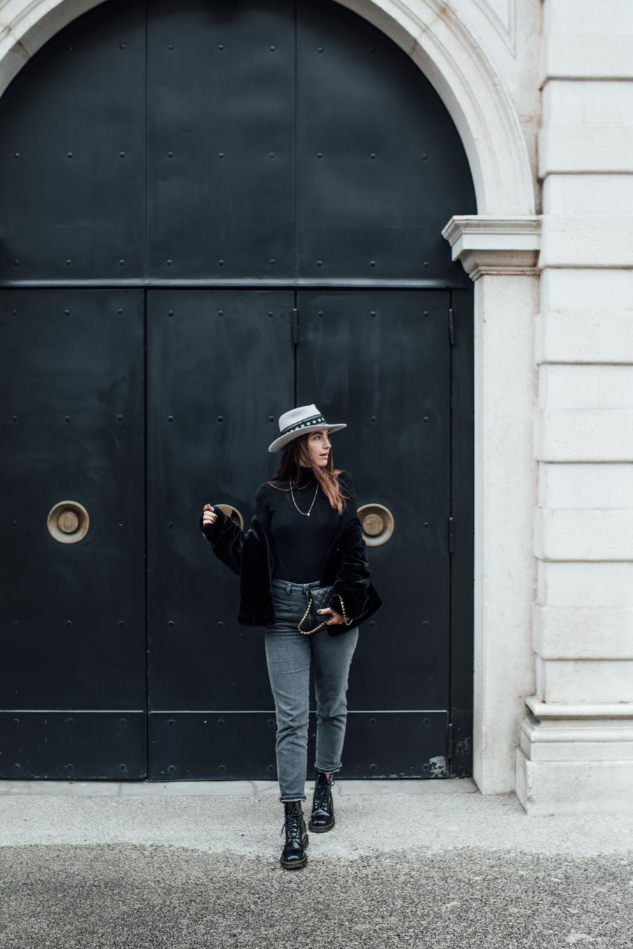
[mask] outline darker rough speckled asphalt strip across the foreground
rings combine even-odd
[[[282,846],[279,838],[279,849]],[[0,847],[0,949],[630,949],[633,860],[475,848],[277,856]]]

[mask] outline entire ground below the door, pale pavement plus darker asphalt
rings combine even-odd
[[[0,794],[0,949],[633,947],[633,814],[341,784],[294,871],[274,793]]]

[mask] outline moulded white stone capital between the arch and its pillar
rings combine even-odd
[[[541,216],[462,214],[442,230],[453,260],[460,260],[472,280],[484,273],[531,276],[538,272]]]

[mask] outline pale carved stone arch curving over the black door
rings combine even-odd
[[[0,95],[39,47],[98,2],[10,4],[7,21],[0,21]],[[381,29],[435,86],[464,143],[478,213],[534,214],[530,158],[516,110],[489,57],[455,10],[442,0],[337,2]]]

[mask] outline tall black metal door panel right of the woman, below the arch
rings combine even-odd
[[[384,605],[362,627],[350,707],[447,709],[450,565],[450,296],[435,291],[301,291],[299,403],[320,391],[334,463],[359,506],[384,505],[393,536],[368,549]],[[372,624],[373,623],[373,624]]]

